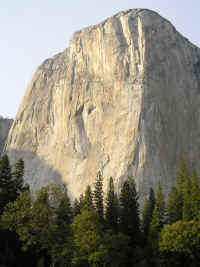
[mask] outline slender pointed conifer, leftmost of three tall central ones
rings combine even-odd
[[[95,188],[94,188],[94,204],[97,214],[101,221],[104,220],[104,209],[103,209],[103,177],[101,172],[98,172]]]

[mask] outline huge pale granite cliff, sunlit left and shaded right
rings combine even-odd
[[[177,159],[200,167],[200,49],[157,13],[134,9],[73,35],[28,86],[9,132],[32,189],[64,181],[72,197],[128,175],[167,192]]]

